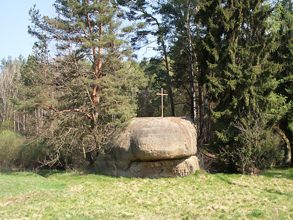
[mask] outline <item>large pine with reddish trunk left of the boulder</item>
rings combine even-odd
[[[54,5],[56,18],[30,11],[29,32],[53,42],[57,51],[50,85],[54,100],[40,106],[51,111],[44,137],[51,154],[44,164],[64,166],[81,163],[88,153],[94,159],[111,129],[135,116],[144,76],[127,61],[131,50],[120,37],[114,0],[56,0]]]

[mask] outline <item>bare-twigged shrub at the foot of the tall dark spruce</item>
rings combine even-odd
[[[221,147],[220,153],[220,158],[229,165],[242,173],[257,173],[282,159],[281,137],[272,132],[261,112],[250,111],[237,118],[232,126],[238,135],[231,145]]]

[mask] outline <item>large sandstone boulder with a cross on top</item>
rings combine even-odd
[[[112,133],[95,169],[110,176],[187,176],[199,169],[196,142],[189,117],[134,118]]]

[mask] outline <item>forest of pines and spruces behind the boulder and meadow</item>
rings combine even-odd
[[[89,166],[112,131],[161,116],[161,88],[164,116],[189,116],[199,154],[223,169],[290,162],[291,0],[56,0],[54,9],[32,6],[33,53],[1,60],[0,167]],[[138,59],[150,46],[156,55]]]

